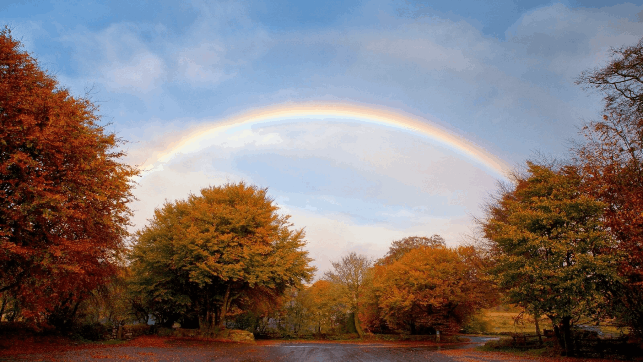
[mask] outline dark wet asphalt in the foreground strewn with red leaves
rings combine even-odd
[[[97,348],[60,351],[51,354],[12,356],[0,361],[154,361],[154,362],[453,362],[440,354],[442,349],[464,349],[482,345],[493,338],[467,337],[469,343],[442,346],[415,343],[406,347],[384,344],[350,343],[289,343],[287,341],[260,342],[257,345],[240,343],[205,343],[179,341],[176,345],[145,347],[142,345],[114,345]]]

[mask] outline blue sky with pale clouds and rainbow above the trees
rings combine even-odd
[[[245,181],[305,228],[320,272],[406,236],[461,243],[508,170],[566,157],[600,117],[574,80],[642,19],[643,1],[0,3],[128,141],[132,231],[165,200]]]

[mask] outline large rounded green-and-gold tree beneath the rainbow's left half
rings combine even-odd
[[[168,322],[191,315],[212,331],[224,329],[226,313],[244,296],[302,287],[315,271],[303,230],[291,230],[289,216],[276,210],[266,189],[244,182],[166,202],[136,233],[134,290]]]

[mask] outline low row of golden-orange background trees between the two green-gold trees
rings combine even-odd
[[[349,252],[323,279],[275,305],[239,310],[230,325],[267,336],[454,334],[498,301],[484,266],[474,247],[451,249],[438,235],[404,238],[375,262]]]

